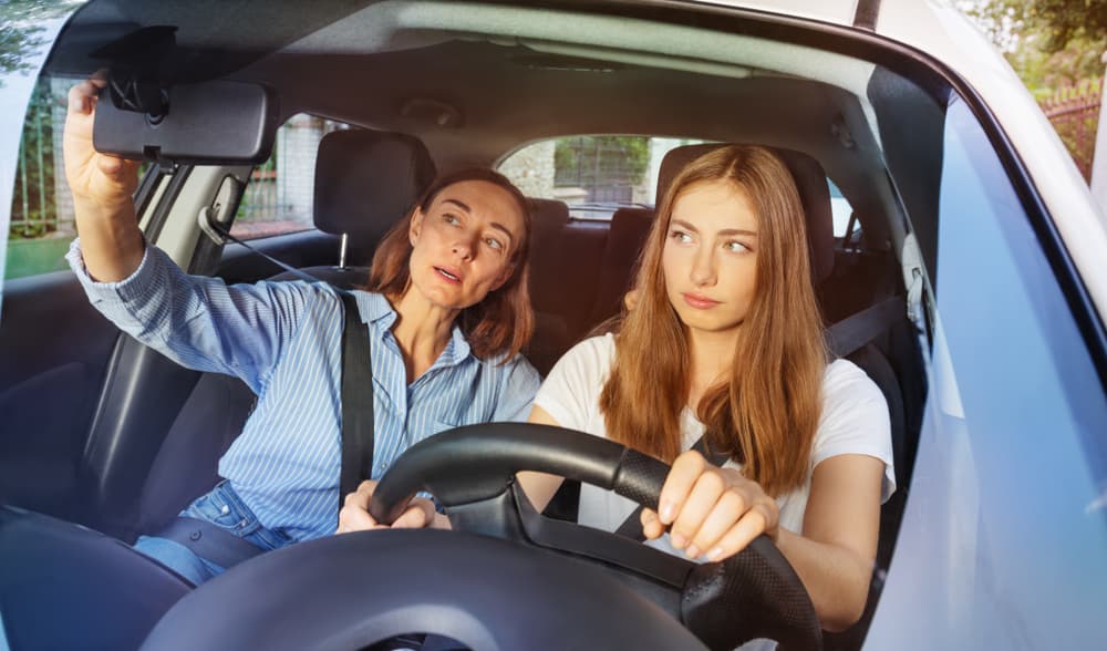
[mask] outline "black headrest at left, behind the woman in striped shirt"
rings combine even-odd
[[[315,228],[375,241],[434,180],[434,162],[417,138],[364,130],[323,136],[315,158]]]

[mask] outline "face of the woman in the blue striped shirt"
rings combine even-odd
[[[426,213],[416,209],[412,217],[412,288],[446,309],[480,302],[511,277],[511,255],[524,231],[519,206],[506,189],[486,180],[446,186]]]

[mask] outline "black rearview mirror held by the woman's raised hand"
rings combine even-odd
[[[124,158],[185,164],[259,164],[272,151],[277,96],[260,84],[210,81],[161,93],[159,115],[105,90],[96,105],[93,146]],[[121,108],[116,105],[120,102]]]

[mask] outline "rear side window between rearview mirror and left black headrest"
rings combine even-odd
[[[250,175],[231,235],[257,239],[313,228],[319,141],[341,128],[349,126],[306,114],[289,118],[277,131],[272,155]]]

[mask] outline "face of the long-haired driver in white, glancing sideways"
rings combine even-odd
[[[662,271],[669,302],[693,333],[736,333],[754,300],[757,215],[724,180],[692,184],[673,204]]]

